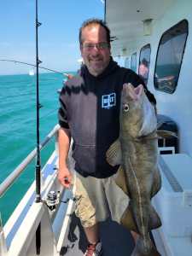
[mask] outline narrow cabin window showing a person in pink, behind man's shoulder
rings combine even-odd
[[[151,47],[146,44],[140,51],[138,74],[145,84],[148,84],[148,71],[150,64]]]

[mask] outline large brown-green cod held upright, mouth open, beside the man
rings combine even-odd
[[[160,255],[149,236],[150,230],[161,225],[151,205],[151,198],[161,186],[157,119],[142,84],[137,88],[124,84],[119,123],[119,139],[108,149],[107,160],[112,166],[120,165],[115,182],[130,198],[121,224],[140,235],[131,256]]]

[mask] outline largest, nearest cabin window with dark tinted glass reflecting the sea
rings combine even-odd
[[[183,52],[188,36],[188,21],[182,20],[163,33],[156,57],[154,88],[173,93],[183,60]]]

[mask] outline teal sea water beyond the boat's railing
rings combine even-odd
[[[64,77],[59,73],[39,74],[40,141],[57,123],[58,92]],[[36,76],[0,76],[0,183],[36,147]],[[41,166],[54,150],[54,140],[41,151]],[[35,160],[0,198],[3,224],[35,177]]]

